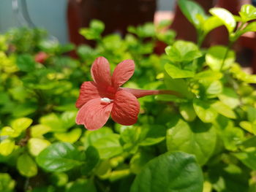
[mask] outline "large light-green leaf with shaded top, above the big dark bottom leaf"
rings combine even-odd
[[[191,124],[178,120],[167,131],[166,137],[169,151],[181,150],[193,154],[200,165],[206,164],[211,157],[217,141],[215,128],[199,120]]]

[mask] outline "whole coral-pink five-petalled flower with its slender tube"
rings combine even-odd
[[[124,60],[116,66],[111,77],[108,60],[104,57],[97,58],[91,66],[94,81],[83,82],[80,88],[75,104],[80,108],[76,123],[95,130],[104,126],[110,115],[121,125],[136,123],[140,111],[137,98],[162,92],[120,88],[132,77],[134,71],[134,61]]]

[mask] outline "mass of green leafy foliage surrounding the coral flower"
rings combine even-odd
[[[0,35],[0,192],[252,192],[255,191],[256,76],[236,63],[231,50],[247,31],[256,31],[255,7],[239,16],[179,0],[195,26],[197,45],[146,23],[128,33],[103,35],[93,20],[80,30],[95,46],[60,45],[38,29]],[[229,45],[201,49],[218,26]],[[238,27],[236,27],[238,26]],[[165,53],[154,53],[158,41]],[[79,58],[70,58],[70,50]],[[42,63],[35,56],[44,52]],[[133,126],[108,120],[88,131],[75,125],[80,85],[104,56],[111,69],[133,59],[135,74],[124,87],[176,91],[139,99]],[[203,173],[203,174],[202,174]]]

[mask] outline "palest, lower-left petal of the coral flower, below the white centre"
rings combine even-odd
[[[75,122],[84,125],[89,130],[102,128],[107,122],[113,103],[102,102],[101,99],[91,99],[78,111]]]

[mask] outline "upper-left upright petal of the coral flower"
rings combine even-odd
[[[95,59],[91,66],[91,77],[94,82],[102,87],[107,87],[111,83],[110,65],[104,57]]]

